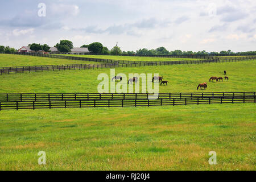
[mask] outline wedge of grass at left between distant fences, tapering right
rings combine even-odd
[[[36,57],[24,55],[0,54],[0,67],[21,67],[33,65],[55,65],[55,64],[88,64],[95,62],[81,60],[53,59],[49,57]]]

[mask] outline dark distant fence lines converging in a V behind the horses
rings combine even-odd
[[[179,65],[179,64],[204,64],[204,63],[225,63],[254,60],[256,56],[243,57],[210,57],[204,56],[200,60],[181,60],[181,61],[127,61],[127,60],[109,60],[96,59],[89,57],[63,56],[63,55],[43,55],[40,53],[24,53],[16,52],[18,55],[30,55],[39,57],[51,57],[58,59],[69,60],[84,60],[95,61],[102,64],[65,64],[65,65],[34,65],[24,67],[3,67],[0,68],[0,75],[11,73],[26,73],[26,72],[42,72],[42,71],[65,71],[73,69],[99,69],[99,68],[124,68],[124,67],[145,67],[145,66],[159,66],[159,65]]]

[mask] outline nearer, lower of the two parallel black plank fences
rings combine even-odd
[[[10,109],[53,109],[70,107],[126,107],[126,106],[167,106],[190,104],[255,103],[256,96],[205,97],[205,98],[160,98],[158,100],[73,100],[73,101],[11,101],[0,102],[0,110]]]

